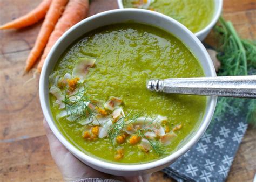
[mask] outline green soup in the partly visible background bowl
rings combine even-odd
[[[212,20],[214,0],[123,0],[124,8],[146,8],[163,13],[185,25],[193,33],[204,29]]]

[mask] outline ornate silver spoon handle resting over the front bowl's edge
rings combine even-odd
[[[256,75],[152,79],[147,81],[147,89],[176,94],[256,98]]]

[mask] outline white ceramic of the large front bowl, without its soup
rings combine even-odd
[[[53,120],[49,103],[49,75],[53,71],[53,68],[60,58],[60,55],[62,55],[62,53],[66,50],[66,48],[68,48],[69,45],[71,45],[75,40],[79,39],[85,33],[104,25],[121,22],[123,23],[127,22],[128,20],[132,20],[133,22],[137,23],[154,25],[160,27],[160,29],[172,33],[174,36],[183,41],[183,43],[190,48],[191,52],[196,55],[204,69],[206,76],[216,76],[210,56],[208,55],[205,47],[201,44],[199,39],[194,36],[191,31],[189,31],[184,25],[180,24],[176,20],[161,13],[149,10],[117,9],[105,11],[82,20],[81,22],[71,27],[71,29],[66,31],[63,36],[58,39],[56,44],[51,48],[51,51],[45,60],[39,81],[39,96],[44,117],[59,141],[79,160],[98,171],[118,176],[134,176],[138,174],[156,172],[173,163],[178,157],[189,150],[203,135],[211,121],[217,100],[217,97],[207,98],[207,106],[203,120],[198,125],[198,128],[193,131],[190,136],[187,137],[186,142],[180,144],[176,152],[153,162],[136,165],[114,164],[111,162],[106,162],[106,160],[100,160],[88,156],[73,146],[62,135],[62,133],[57,128],[55,121]]]

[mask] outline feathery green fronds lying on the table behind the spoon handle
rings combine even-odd
[[[217,58],[221,62],[218,76],[255,75],[255,41],[241,39],[230,21],[226,22],[220,17],[219,23],[214,27],[214,32],[217,33],[219,40]],[[223,116],[226,110],[237,115],[241,108],[244,108],[246,112],[248,110],[247,121],[256,125],[256,101],[253,99],[219,97],[215,116]]]

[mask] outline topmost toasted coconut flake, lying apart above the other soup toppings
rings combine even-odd
[[[96,59],[92,58],[80,58],[73,68],[72,76],[78,77],[83,83],[86,78],[86,74],[88,73],[88,69],[94,66],[95,61]]]

